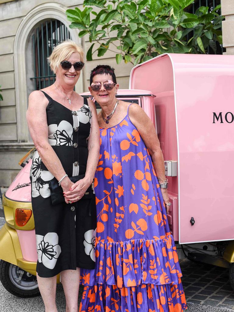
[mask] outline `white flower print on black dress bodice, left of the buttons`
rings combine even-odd
[[[59,125],[50,124],[48,126],[48,141],[54,145],[72,145],[73,128],[70,122],[62,120]]]

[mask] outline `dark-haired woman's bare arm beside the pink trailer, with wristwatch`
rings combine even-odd
[[[132,104],[129,107],[129,117],[131,122],[137,128],[140,136],[142,137],[149,154],[151,155],[154,163],[154,168],[158,179],[163,183],[166,179],[163,153],[160,148],[157,133],[154,128],[154,124],[144,112],[144,110],[137,104]],[[169,202],[167,189],[161,188],[163,200],[165,203]],[[169,207],[167,206],[167,211]]]

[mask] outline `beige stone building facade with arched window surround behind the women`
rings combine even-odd
[[[3,101],[0,101],[0,186],[9,186],[20,170],[19,159],[32,147],[26,110],[28,95],[33,88],[30,77],[34,76],[32,34],[41,22],[56,19],[69,28],[66,20],[68,8],[82,8],[82,0],[0,0],[0,85]],[[223,46],[227,54],[234,54],[234,5],[232,0],[222,0]],[[77,29],[70,30],[71,39],[80,43],[85,54],[91,43],[87,37],[78,36]],[[100,63],[116,69],[120,88],[128,88],[132,64],[115,62],[115,53],[107,51],[100,58],[86,63],[76,91],[88,90],[90,70]]]

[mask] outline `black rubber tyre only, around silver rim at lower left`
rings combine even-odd
[[[35,289],[21,289],[20,287],[17,287],[12,283],[12,280],[10,278],[10,266],[12,264],[0,260],[0,281],[2,283],[2,286],[12,295],[20,297],[20,298],[30,298],[30,297],[37,297],[40,295],[39,288]]]

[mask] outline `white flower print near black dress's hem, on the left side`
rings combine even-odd
[[[48,269],[53,269],[61,254],[61,247],[58,245],[57,233],[47,233],[45,236],[36,235],[38,261]]]

